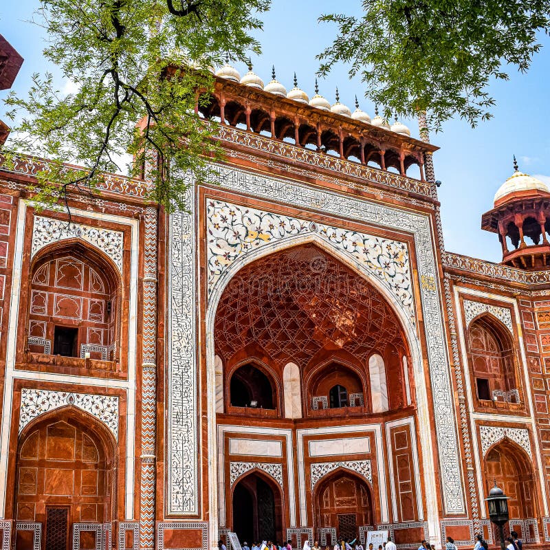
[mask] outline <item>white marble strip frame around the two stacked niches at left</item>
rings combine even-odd
[[[2,418],[0,428],[0,517],[5,514],[5,492],[8,478],[8,446],[10,442],[10,429],[13,409],[13,385],[14,380],[35,380],[36,373],[32,371],[18,371],[15,369],[15,347],[17,345],[17,329],[19,318],[19,294],[21,290],[21,266],[23,265],[23,238],[25,236],[25,223],[28,208],[34,203],[19,199],[17,211],[17,230],[15,233],[14,265],[12,271],[12,295],[10,298],[10,314],[8,320],[8,347],[5,359],[5,386],[3,395]],[[44,206],[44,205],[42,205]],[[126,519],[133,518],[134,503],[134,461],[135,461],[135,360],[137,344],[137,267],[138,267],[138,246],[139,246],[139,222],[130,217],[118,216],[116,214],[104,214],[72,208],[73,214],[83,218],[102,219],[119,225],[127,225],[131,230],[130,237],[130,286],[129,286],[129,322],[128,322],[128,380],[109,380],[97,377],[78,375],[59,375],[57,373],[41,373],[40,379],[45,382],[57,382],[61,391],[63,383],[76,384],[85,388],[101,386],[107,388],[122,388],[126,391],[126,480],[124,483],[124,516]],[[54,217],[55,212],[45,210],[41,216]],[[100,250],[100,248],[98,248]],[[100,250],[102,254],[103,251]]]

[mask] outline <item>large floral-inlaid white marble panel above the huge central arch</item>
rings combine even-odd
[[[415,322],[406,243],[214,199],[208,199],[206,208],[209,291],[242,254],[290,236],[314,234],[369,270]]]

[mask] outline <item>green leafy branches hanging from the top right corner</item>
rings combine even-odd
[[[507,63],[527,71],[548,32],[547,0],[363,0],[364,14],[325,14],[338,36],[320,54],[320,74],[349,63],[386,117],[427,111],[428,126],[458,115],[491,118],[487,87]]]

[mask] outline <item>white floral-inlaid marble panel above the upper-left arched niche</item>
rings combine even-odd
[[[122,273],[122,243],[124,240],[122,231],[94,228],[83,223],[68,223],[61,219],[35,216],[32,228],[31,256],[50,243],[74,238],[83,239],[99,248],[109,256],[118,267],[119,272]]]

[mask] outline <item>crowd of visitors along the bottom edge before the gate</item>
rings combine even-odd
[[[473,550],[487,550],[487,541],[481,535],[476,535],[476,543]],[[223,541],[218,542],[219,550],[227,550]],[[252,547],[248,546],[248,542],[244,541],[242,550],[294,550],[292,548],[292,540],[287,540],[283,544],[279,544],[277,541],[263,540],[262,542],[252,542]],[[306,540],[302,550],[397,550],[395,542],[393,542],[391,536],[388,536],[388,541],[383,544],[379,544],[375,549],[372,542],[369,544],[368,549],[364,549],[361,541],[358,538],[349,540],[349,538],[342,538],[339,542],[336,542],[332,547],[327,544],[325,548],[320,547],[319,541],[316,540],[314,545],[309,544],[309,540]],[[418,547],[418,550],[436,550],[434,544],[430,544],[427,540],[423,540]],[[445,542],[445,550],[457,550],[456,544],[452,537],[447,537]],[[511,531],[510,536],[506,539],[506,550],[523,550],[523,544],[518,537],[516,531]]]

